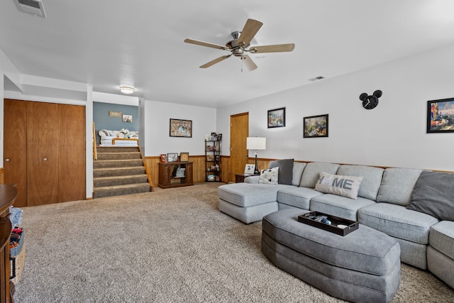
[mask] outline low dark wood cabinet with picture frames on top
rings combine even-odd
[[[194,185],[192,162],[159,162],[159,183],[161,188]]]

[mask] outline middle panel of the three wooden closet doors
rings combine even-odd
[[[58,106],[27,103],[27,205],[58,202]]]

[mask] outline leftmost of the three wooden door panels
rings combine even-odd
[[[27,206],[27,102],[4,99],[5,183],[16,184],[14,206]]]

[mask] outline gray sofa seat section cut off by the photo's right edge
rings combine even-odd
[[[441,221],[431,227],[428,243],[436,250],[454,259],[454,222]]]

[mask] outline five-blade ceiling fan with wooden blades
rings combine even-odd
[[[278,45],[262,45],[262,46],[250,46],[250,41],[253,40],[255,34],[258,30],[262,27],[263,23],[254,19],[248,19],[246,21],[243,31],[234,31],[231,35],[233,40],[228,41],[226,45],[218,45],[214,43],[204,42],[200,40],[194,40],[187,38],[184,40],[186,43],[192,43],[195,45],[206,46],[209,48],[217,48],[219,50],[228,50],[231,53],[228,55],[224,55],[222,57],[218,57],[204,65],[201,65],[200,68],[210,67],[211,65],[215,65],[218,62],[226,60],[231,55],[235,57],[239,57],[242,63],[241,71],[243,71],[243,63],[245,67],[251,71],[257,68],[257,65],[253,62],[252,59],[246,53],[278,53],[278,52],[291,52],[294,50],[295,45],[294,43],[288,44],[278,44]]]

